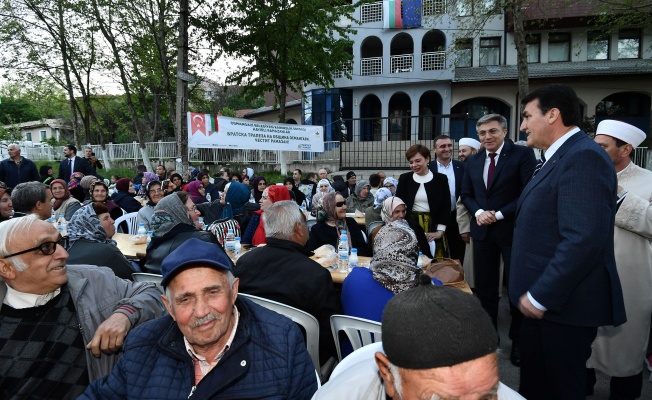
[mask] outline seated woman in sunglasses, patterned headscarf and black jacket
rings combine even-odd
[[[349,249],[358,249],[358,255],[370,256],[371,251],[355,219],[346,216],[346,203],[340,192],[331,192],[322,200],[323,210],[317,213],[317,223],[310,228],[306,247],[315,250],[325,244],[337,249],[342,232],[346,232]]]

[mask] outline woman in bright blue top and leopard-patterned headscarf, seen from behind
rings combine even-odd
[[[417,286],[423,270],[416,235],[403,219],[385,225],[375,247],[369,269],[354,268],[344,280],[341,299],[344,314],[381,322],[389,299]]]

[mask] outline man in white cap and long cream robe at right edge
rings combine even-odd
[[[652,313],[652,172],[631,160],[631,153],[645,140],[645,133],[625,122],[598,124],[595,141],[609,154],[618,173],[618,203],[614,250],[623,288],[627,322],[617,328],[598,328],[587,367],[589,390],[597,368],[611,376],[611,397],[641,396],[641,360],[645,358]],[[591,377],[593,381],[591,382]]]

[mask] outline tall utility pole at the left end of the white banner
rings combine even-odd
[[[179,47],[177,48],[177,112],[176,132],[178,157],[184,171],[188,170],[188,0],[180,0],[179,5]],[[181,171],[177,171],[182,173]]]

